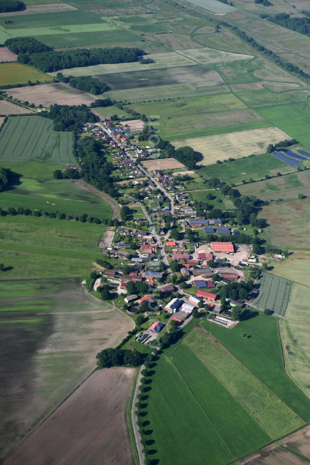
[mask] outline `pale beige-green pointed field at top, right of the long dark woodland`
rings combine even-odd
[[[187,50],[180,50],[178,53],[184,55],[186,58],[198,61],[206,65],[208,63],[229,63],[237,60],[251,60],[253,55],[244,55],[239,53],[222,52],[222,50],[214,50],[209,47],[203,48],[190,48]],[[244,63],[246,65],[246,62]]]

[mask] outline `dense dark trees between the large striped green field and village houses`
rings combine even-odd
[[[118,191],[113,185],[112,163],[106,161],[102,145],[92,137],[86,136],[78,141],[78,155],[82,159],[81,177],[111,197],[117,197]]]

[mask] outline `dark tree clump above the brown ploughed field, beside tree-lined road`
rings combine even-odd
[[[139,351],[108,348],[96,355],[98,368],[110,368],[111,366],[134,365],[139,366],[143,361],[143,354]]]

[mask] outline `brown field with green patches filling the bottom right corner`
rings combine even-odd
[[[285,449],[284,449],[285,448]],[[290,453],[292,452],[292,453]],[[304,458],[304,459],[303,459]],[[304,465],[310,460],[310,426],[242,458],[237,465]]]

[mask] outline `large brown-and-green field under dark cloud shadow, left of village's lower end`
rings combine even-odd
[[[2,281],[0,296],[3,459],[92,372],[96,353],[117,345],[133,322],[90,295],[79,279]]]

